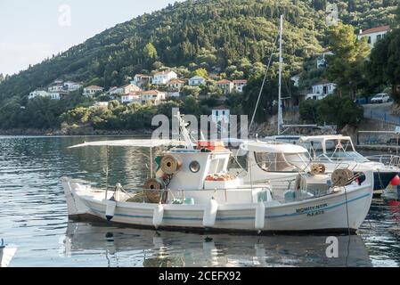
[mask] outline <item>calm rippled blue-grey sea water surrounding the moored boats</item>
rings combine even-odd
[[[208,236],[69,221],[61,176],[135,188],[146,151],[69,150],[110,137],[0,137],[0,237],[18,247],[11,266],[399,266],[400,201],[374,199],[358,235],[339,237],[327,258],[325,236]],[[109,160],[107,158],[110,158]],[[210,239],[206,239],[210,238]]]

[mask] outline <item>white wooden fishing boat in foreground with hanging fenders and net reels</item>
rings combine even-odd
[[[301,180],[277,195],[269,183],[253,184],[229,173],[232,153],[224,142],[192,142],[184,120],[177,118],[184,137],[180,146],[171,147],[168,140],[124,140],[71,147],[168,146],[151,161],[151,178],[140,189],[127,191],[120,184],[100,189],[62,178],[69,216],[155,229],[259,233],[355,232],[363,223],[371,206],[371,172],[365,171],[362,180],[338,175],[317,196]]]

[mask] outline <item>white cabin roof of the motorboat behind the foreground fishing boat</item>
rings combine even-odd
[[[243,142],[241,150],[269,153],[306,153],[304,147],[282,142]]]

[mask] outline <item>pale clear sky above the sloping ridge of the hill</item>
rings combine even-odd
[[[0,0],[0,74],[18,73],[106,28],[175,2]]]

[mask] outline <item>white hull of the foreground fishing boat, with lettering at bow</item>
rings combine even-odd
[[[355,232],[363,223],[371,206],[371,179],[363,186],[348,186],[320,198],[280,204],[265,202],[265,221],[256,228],[257,203],[222,204],[216,222],[208,230],[223,232]],[[94,191],[81,183],[63,179],[69,216],[96,217],[104,221],[107,201],[104,191]],[[111,193],[108,199],[110,199]],[[162,205],[162,222],[158,228],[204,230],[206,205]],[[153,216],[158,204],[117,202],[111,222],[155,228]]]

